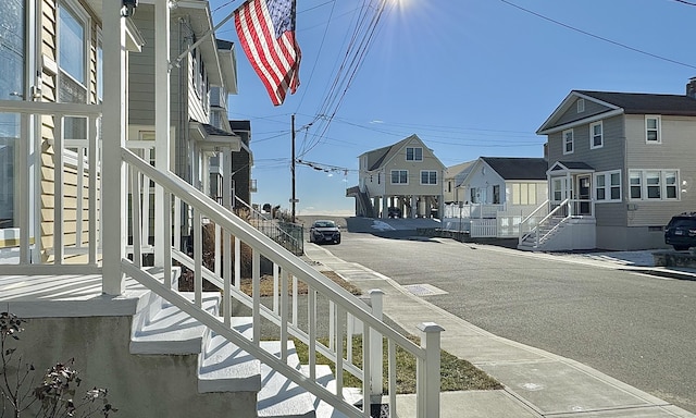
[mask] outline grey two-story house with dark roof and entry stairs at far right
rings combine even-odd
[[[588,232],[538,249],[663,247],[670,218],[696,207],[696,78],[685,95],[573,90],[537,134],[551,206]]]

